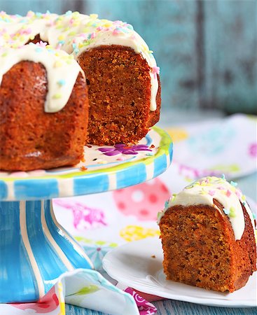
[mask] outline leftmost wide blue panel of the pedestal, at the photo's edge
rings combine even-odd
[[[0,301],[39,299],[36,279],[20,237],[20,202],[0,202]],[[20,290],[22,288],[22,290]]]

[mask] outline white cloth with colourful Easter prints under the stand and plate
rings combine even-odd
[[[221,174],[237,179],[256,172],[256,123],[256,117],[237,114],[167,127],[174,158],[158,178],[123,190],[54,200],[57,221],[85,248],[95,270],[62,274],[40,302],[0,304],[0,315],[65,314],[65,303],[108,314],[155,314],[153,304],[139,293],[121,290],[109,279],[102,269],[104,255],[129,241],[158,237],[157,212],[188,182]]]

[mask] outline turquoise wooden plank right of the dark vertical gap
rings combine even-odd
[[[257,2],[206,1],[207,104],[257,113]]]

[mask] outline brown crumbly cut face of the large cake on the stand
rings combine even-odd
[[[151,70],[132,48],[102,45],[83,52],[78,62],[86,73],[90,144],[136,144],[157,123],[160,106],[150,110]],[[160,92],[156,96],[160,105]]]

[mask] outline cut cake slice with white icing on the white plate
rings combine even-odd
[[[169,280],[233,292],[256,271],[253,214],[234,182],[195,181],[173,195],[158,223]]]

